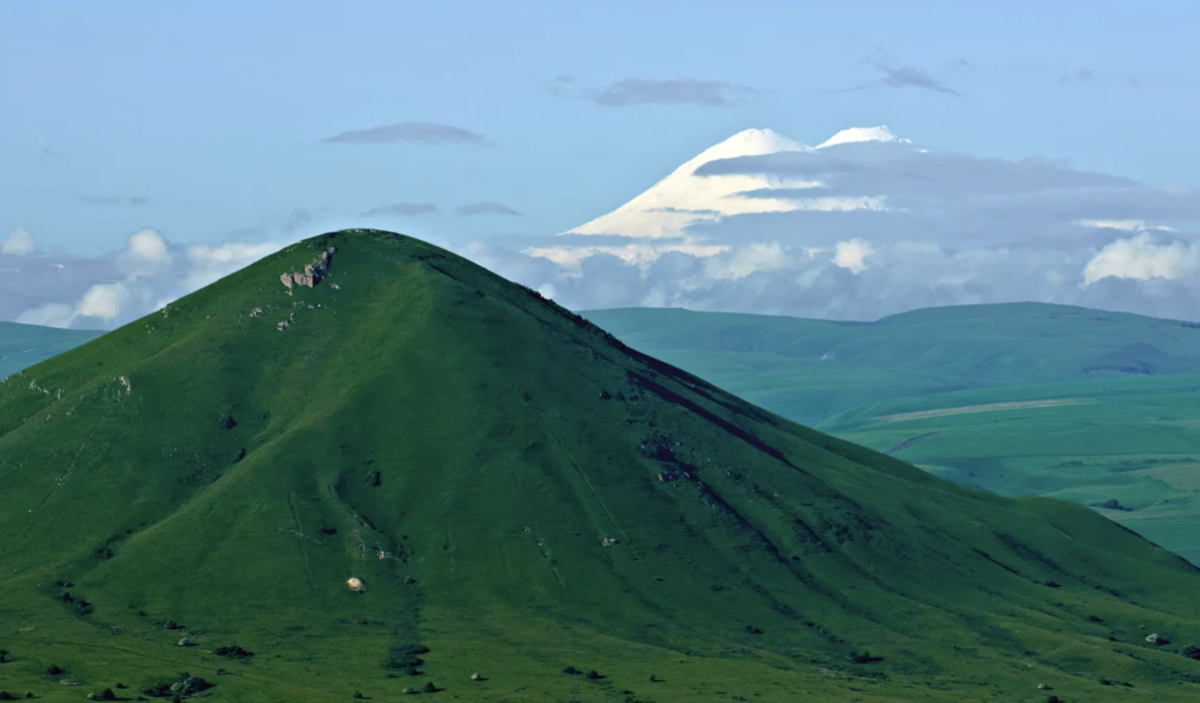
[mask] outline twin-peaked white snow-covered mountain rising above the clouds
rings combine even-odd
[[[662,251],[715,254],[725,247],[704,245],[686,235],[689,226],[714,222],[733,215],[788,212],[793,210],[882,209],[877,198],[821,197],[820,181],[782,180],[762,174],[696,175],[702,166],[740,156],[763,156],[785,151],[816,151],[844,144],[881,142],[911,144],[886,126],[852,127],[838,132],[818,146],[806,146],[770,130],[744,130],[709,146],[671,172],[665,179],[607,215],[568,230],[570,235],[619,235],[635,241],[620,246],[538,247],[526,253],[558,263],[571,263],[596,252],[612,253],[626,260],[648,260]],[[812,188],[812,198],[762,197],[762,191]],[[758,191],[756,197],[745,193]]]

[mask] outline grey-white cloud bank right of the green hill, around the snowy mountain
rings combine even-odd
[[[847,131],[820,149],[718,158],[694,172],[762,176],[775,186],[740,197],[803,208],[696,217],[672,238],[613,232],[455,248],[575,310],[872,320],[1042,301],[1200,320],[1200,188],[880,134],[889,136]]]

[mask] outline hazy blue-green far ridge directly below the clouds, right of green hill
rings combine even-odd
[[[1000,384],[1200,368],[1200,324],[1045,304],[846,323],[674,308],[588,311],[628,344],[806,423],[863,403]]]

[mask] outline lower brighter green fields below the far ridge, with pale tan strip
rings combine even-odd
[[[854,408],[822,429],[1003,495],[1040,494],[1104,510],[1200,564],[1200,374],[1002,386]],[[998,403],[1079,404],[990,409]],[[960,413],[956,409],[985,410]],[[944,413],[882,420],[898,414]]]

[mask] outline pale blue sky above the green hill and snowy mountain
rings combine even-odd
[[[79,298],[91,286],[145,276],[127,272],[140,256],[131,253],[134,242],[149,241],[133,239],[143,230],[166,242],[143,253],[174,251],[179,269],[185,260],[241,262],[334,227],[383,226],[486,250],[512,277],[566,290],[563,277],[577,270],[493,250],[600,216],[750,127],[817,144],[847,127],[888,125],[971,157],[1046,157],[1148,185],[1200,184],[1200,140],[1192,137],[1198,24],[1194,4],[1097,0],[0,2],[0,239],[16,242],[0,251],[0,269],[24,276],[19,292],[18,283],[6,289],[0,318],[52,302],[76,311],[70,319],[95,310]],[[397,124],[425,142],[361,139]],[[1153,220],[1160,199],[1144,196],[1128,200],[1129,211]],[[1037,203],[1048,209],[1044,197]],[[388,208],[391,215],[364,216]],[[1180,208],[1168,210],[1192,211]],[[746,251],[769,250],[792,227],[734,220],[721,241]],[[1043,241],[1058,236],[1043,229]],[[1154,232],[1162,239],[1166,230]],[[890,239],[918,234],[899,229]],[[1087,257],[1112,244],[1088,241],[1072,254],[1079,270],[1070,276],[1084,276]],[[1151,287],[1162,266],[1170,281],[1183,276],[1154,262],[1190,252],[1190,240],[1145,242],[1184,250],[1138,245],[1126,258],[1152,257],[1136,259],[1141,269],[1136,269],[1134,280]],[[209,254],[184,253],[197,245]],[[224,245],[241,253],[217,248]],[[953,242],[937,246],[953,254]],[[20,265],[5,254],[23,257]],[[62,260],[88,274],[46,274],[43,264]],[[214,264],[197,281],[229,265]],[[1043,264],[1021,265],[1042,275]],[[604,271],[610,289],[620,276],[648,276],[644,265]],[[140,307],[126,305],[122,316],[169,298],[128,295]],[[618,302],[674,300],[646,295]],[[827,317],[892,310],[803,295],[811,305],[762,307]],[[964,289],[911,301],[1013,295]],[[576,304],[605,300],[588,294]],[[710,306],[758,310],[745,290],[736,300]],[[1165,310],[1157,305],[1138,310]]]

